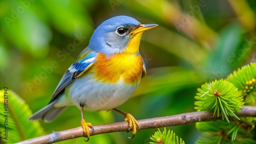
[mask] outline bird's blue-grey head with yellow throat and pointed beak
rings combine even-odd
[[[158,25],[142,25],[129,16],[115,16],[99,25],[90,39],[89,47],[106,55],[138,53],[143,31],[156,26]]]

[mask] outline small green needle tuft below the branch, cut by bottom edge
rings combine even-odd
[[[154,141],[150,143],[185,144],[185,142],[181,138],[179,140],[179,137],[176,136],[173,131],[170,132],[170,130],[168,130],[167,132],[166,128],[164,128],[163,132],[161,132],[161,130],[158,129],[158,131],[156,131],[155,134],[152,135],[150,139]]]

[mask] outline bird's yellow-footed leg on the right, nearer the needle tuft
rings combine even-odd
[[[120,110],[118,110],[116,108],[113,108],[113,110],[121,113],[125,117],[124,121],[129,123],[129,129],[128,129],[127,132],[129,132],[129,131],[131,131],[131,129],[133,129],[133,136],[132,137],[127,137],[127,138],[133,138],[135,136],[136,132],[137,132],[136,127],[138,128],[138,132],[140,131],[140,125],[137,122],[137,120],[130,113],[126,113],[126,112],[120,111]]]

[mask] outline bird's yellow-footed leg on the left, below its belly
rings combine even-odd
[[[83,131],[83,136],[84,137],[87,137],[87,140],[84,140],[84,141],[88,141],[90,139],[90,130],[89,130],[89,127],[93,130],[92,133],[94,133],[94,128],[93,128],[93,125],[91,123],[86,123],[86,120],[84,120],[84,117],[83,117],[83,105],[80,105],[80,108],[81,108],[81,126],[82,126],[82,131]]]

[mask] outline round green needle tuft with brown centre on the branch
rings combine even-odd
[[[241,92],[232,83],[224,80],[215,80],[209,84],[203,84],[201,88],[198,88],[195,99],[195,109],[198,111],[213,110],[214,114],[222,115],[222,119],[227,116],[234,116],[237,119],[234,112],[238,112],[240,107],[244,104]]]

